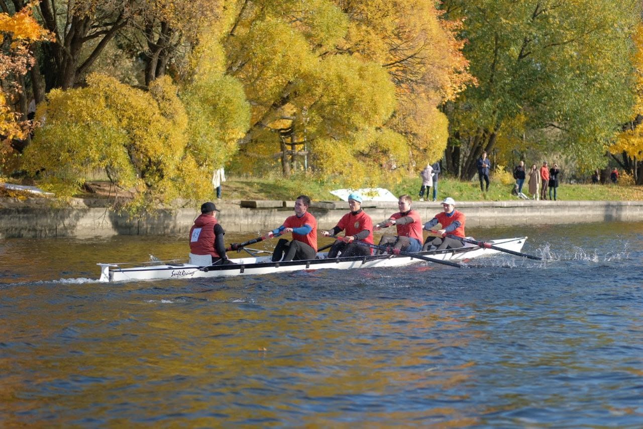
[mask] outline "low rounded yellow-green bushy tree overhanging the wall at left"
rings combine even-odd
[[[120,188],[135,188],[131,205],[139,209],[207,188],[209,178],[186,153],[187,116],[168,78],[145,92],[93,74],[87,87],[51,91],[37,118],[43,125],[23,166],[59,196],[73,195],[94,169]]]

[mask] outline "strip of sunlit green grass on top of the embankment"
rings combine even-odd
[[[306,194],[315,201],[338,201],[339,198],[329,191],[341,188],[341,185],[323,183],[305,176],[293,176],[291,179],[269,178],[235,178],[229,177],[222,184],[223,199],[276,199],[293,200],[300,194]],[[409,194],[417,201],[421,181],[419,178],[408,178],[397,184],[383,184],[396,196]],[[453,197],[456,201],[503,201],[517,199],[511,195],[512,185],[503,185],[491,181],[489,192],[480,192],[478,181],[460,181],[452,178],[440,178],[438,199]],[[523,192],[527,192],[525,183]],[[562,201],[641,201],[643,187],[634,185],[569,185],[561,184],[558,188],[558,199]]]

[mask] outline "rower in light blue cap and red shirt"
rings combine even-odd
[[[349,256],[368,256],[372,251],[367,246],[355,244],[353,241],[360,240],[368,244],[373,242],[373,221],[361,209],[362,199],[359,194],[349,195],[350,212],[343,215],[337,225],[332,230],[321,233],[324,237],[337,235],[344,231],[347,242],[336,241],[332,244],[331,250],[328,251],[329,258],[336,258],[341,253],[342,257]]]

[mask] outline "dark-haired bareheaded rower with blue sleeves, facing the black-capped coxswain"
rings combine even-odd
[[[311,206],[309,196],[300,195],[294,201],[294,215],[285,219],[279,228],[264,234],[264,239],[290,232],[293,239],[279,239],[273,251],[273,262],[282,260],[315,259],[317,255],[317,219],[308,211]],[[285,256],[284,256],[285,253]]]

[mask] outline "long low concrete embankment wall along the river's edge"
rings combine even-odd
[[[197,216],[195,208],[158,210],[131,220],[100,201],[75,200],[68,208],[55,208],[47,199],[0,201],[0,238],[105,237],[110,235],[167,235],[187,233]],[[294,201],[226,201],[217,203],[219,221],[228,232],[259,233],[276,228],[293,214]],[[374,223],[397,212],[396,202],[365,201],[364,210]],[[440,203],[415,202],[422,221],[442,210]],[[475,201],[460,202],[468,227],[536,224],[643,221],[643,201]],[[320,228],[329,229],[348,211],[343,201],[314,202],[310,211]]]

